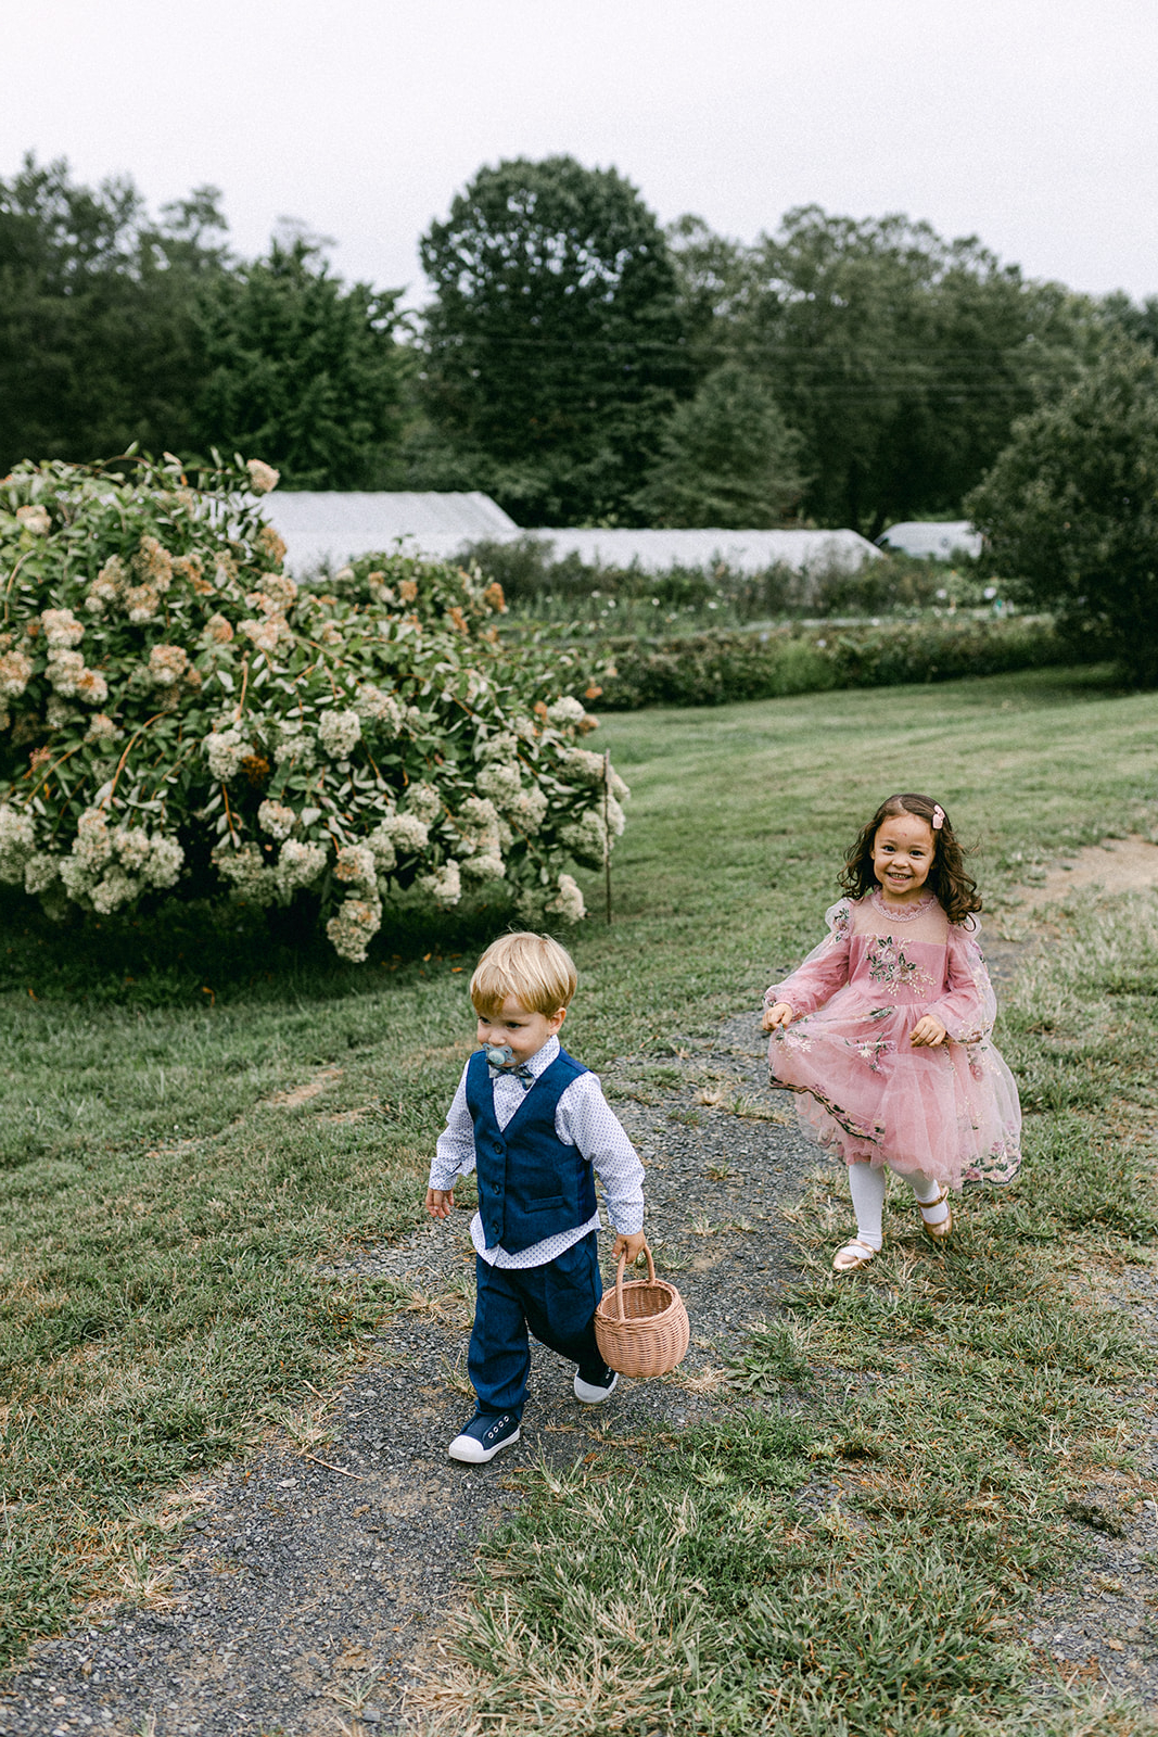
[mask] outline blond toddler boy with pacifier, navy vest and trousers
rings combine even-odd
[[[425,1197],[427,1212],[446,1218],[455,1178],[477,1166],[467,1355],[477,1409],[448,1447],[470,1466],[519,1440],[528,1327],[578,1364],[575,1397],[585,1405],[606,1400],[618,1381],[592,1324],[602,1294],[592,1167],[616,1230],[615,1258],[627,1254],[628,1265],[644,1247],[644,1172],[595,1075],[559,1046],[575,983],[571,955],[547,935],[503,935],[470,978],[481,1047],[458,1082]]]

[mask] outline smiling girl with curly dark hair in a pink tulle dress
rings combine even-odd
[[[929,1237],[953,1230],[948,1190],[1007,1183],[1021,1164],[1014,1079],[988,1042],[997,1002],[977,947],[981,910],[948,815],[891,796],[845,858],[830,935],[764,995],[773,1086],[849,1167],[856,1237],[833,1268],[880,1251],[885,1166],[905,1176]]]

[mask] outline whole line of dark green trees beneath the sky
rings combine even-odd
[[[957,512],[1010,427],[1158,299],[1026,280],[977,240],[816,205],[755,243],[663,229],[615,168],[481,168],[422,238],[431,301],[344,283],[283,226],[229,247],[215,188],[31,156],[0,181],[0,472],[137,441],[257,453],[288,488],[483,488],[523,525],[875,535]]]

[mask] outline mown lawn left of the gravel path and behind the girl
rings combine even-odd
[[[1000,902],[1026,862],[1155,827],[1156,738],[1153,700],[1089,670],[606,719],[592,745],[634,799],[615,926],[587,877],[573,938],[576,1053],[694,1040],[755,1001],[889,789],[938,794]],[[359,1355],[391,1296],[316,1261],[417,1219],[497,917],[340,968],[247,914],[69,938],[9,908],[0,1645],[161,1548],[158,1492]]]

